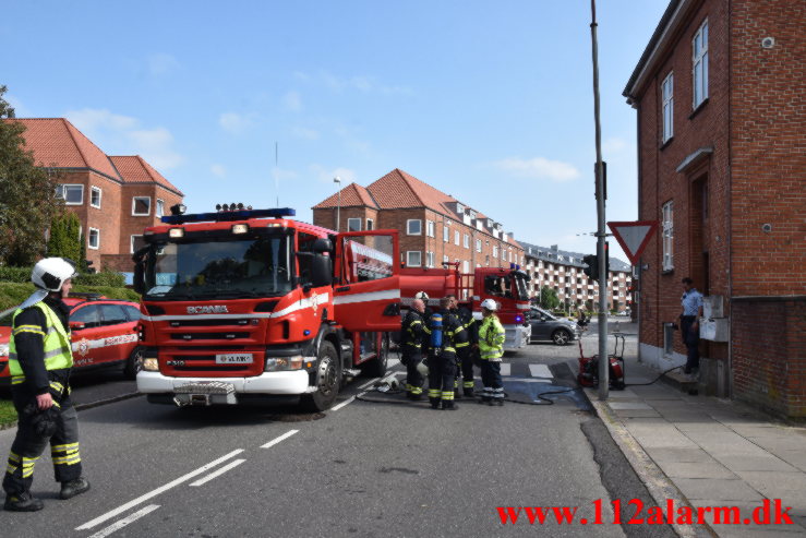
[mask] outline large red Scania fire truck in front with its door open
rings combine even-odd
[[[345,378],[383,375],[400,330],[397,231],[337,234],[293,210],[239,207],[172,208],[145,230],[137,390],[179,406],[301,396],[323,410]]]

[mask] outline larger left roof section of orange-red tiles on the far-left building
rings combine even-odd
[[[58,168],[92,168],[120,181],[109,157],[64,118],[25,118],[15,121],[25,125],[25,148],[34,152],[38,166]]]

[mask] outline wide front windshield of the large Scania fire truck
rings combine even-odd
[[[288,294],[292,283],[288,236],[156,243],[148,253],[148,299],[237,299]]]

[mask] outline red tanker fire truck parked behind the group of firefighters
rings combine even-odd
[[[441,297],[454,294],[477,320],[481,320],[481,301],[494,299],[506,330],[504,349],[514,351],[528,346],[531,337],[531,325],[526,319],[530,309],[528,282],[529,276],[515,264],[509,268],[477,267],[473,273],[460,273],[458,263],[445,268],[404,268],[400,296],[408,306],[418,291],[425,291],[429,306],[435,308]]]

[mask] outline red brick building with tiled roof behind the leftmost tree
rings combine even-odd
[[[182,192],[140,156],[110,157],[64,118],[32,118],[25,148],[58,175],[57,195],[79,215],[94,268],[131,271],[143,229],[182,201]]]

